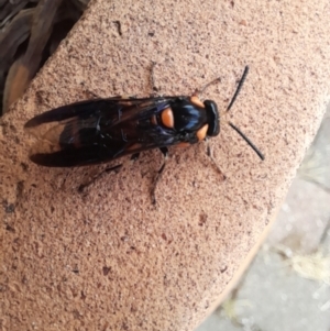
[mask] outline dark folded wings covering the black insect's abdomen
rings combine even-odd
[[[163,131],[157,125],[151,128],[148,119],[170,100],[99,99],[50,110],[25,124],[37,137],[30,158],[44,166],[68,167],[103,163],[158,147],[157,135]],[[136,129],[138,121],[145,121],[143,133]]]

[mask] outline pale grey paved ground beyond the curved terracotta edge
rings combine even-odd
[[[196,331],[330,328],[330,106],[242,282]]]

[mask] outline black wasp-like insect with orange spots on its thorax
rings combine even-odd
[[[227,112],[237,99],[248,70],[246,66]],[[263,159],[253,143],[234,124],[229,124]],[[167,147],[217,136],[220,113],[215,101],[201,102],[197,92],[191,97],[114,97],[46,111],[28,121],[25,129],[37,137],[30,159],[48,167],[100,164],[129,154],[136,158],[141,152],[157,147],[165,157],[156,184],[165,167]]]

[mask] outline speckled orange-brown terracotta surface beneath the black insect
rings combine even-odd
[[[328,0],[92,1],[25,96],[0,122],[0,329],[193,330],[211,310],[274,218],[315,135],[330,81]],[[118,23],[120,21],[121,30]],[[206,144],[158,151],[80,184],[105,166],[31,164],[24,122],[90,98],[163,95],[226,109],[266,155],[261,162],[222,121]]]

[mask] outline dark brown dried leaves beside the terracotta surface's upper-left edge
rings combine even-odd
[[[89,0],[0,0],[0,117],[56,51]]]

